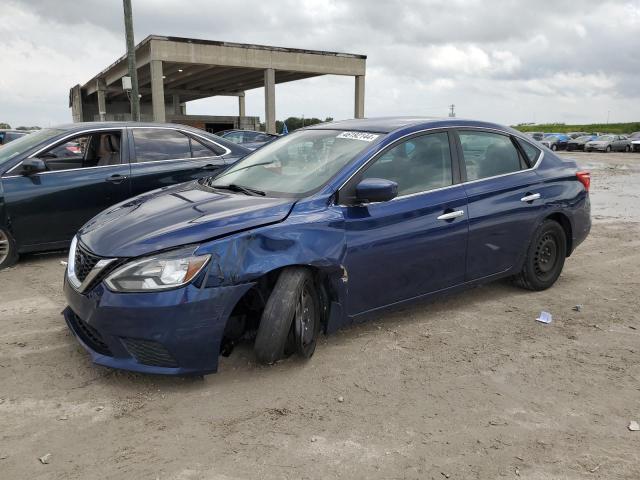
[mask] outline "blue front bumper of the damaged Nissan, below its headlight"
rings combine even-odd
[[[227,319],[252,285],[115,293],[100,284],[83,294],[65,276],[63,315],[96,364],[152,374],[213,373]]]

